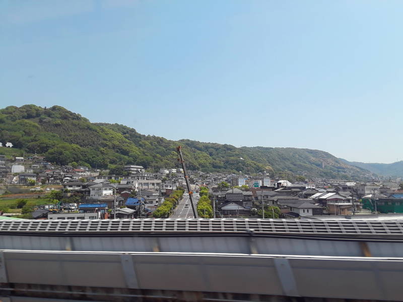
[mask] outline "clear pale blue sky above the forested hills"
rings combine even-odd
[[[402,160],[403,1],[2,0],[0,107]]]

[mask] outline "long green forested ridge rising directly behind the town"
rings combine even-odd
[[[135,129],[91,123],[61,106],[35,105],[0,109],[0,141],[27,153],[43,154],[59,165],[77,162],[97,168],[136,164],[146,168],[176,167],[182,145],[187,167],[205,172],[257,173],[279,176],[357,178],[369,171],[348,165],[327,152],[301,148],[235,147],[189,139],[169,140]]]

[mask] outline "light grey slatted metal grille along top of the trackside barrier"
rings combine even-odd
[[[105,219],[2,220],[0,232],[239,233],[291,235],[393,235],[403,237],[403,221],[294,219]]]

